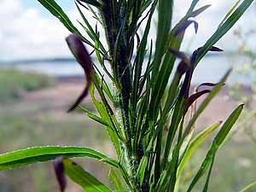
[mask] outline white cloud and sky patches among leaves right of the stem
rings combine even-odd
[[[184,4],[189,4],[191,0],[181,0],[177,1],[179,4],[177,4],[177,9],[183,8]],[[189,30],[187,32],[186,41],[184,44],[184,48],[190,47],[191,49],[195,49],[202,44],[204,44],[208,38],[211,37],[212,33],[215,32],[218,28],[218,25],[221,20],[223,20],[226,13],[230,10],[230,8],[233,6],[233,4],[236,3],[235,0],[233,1],[223,1],[223,0],[201,0],[197,8],[200,8],[201,6],[211,4],[212,6],[207,9],[205,12],[203,12],[201,15],[198,15],[195,20],[199,23],[199,31],[198,34],[195,35],[195,32],[193,28],[190,26]],[[237,48],[237,41],[236,37],[234,36],[234,31],[241,26],[243,31],[247,31],[251,29],[252,27],[256,26],[256,20],[249,20],[250,17],[256,16],[256,10],[255,5],[252,6],[247,10],[245,15],[241,16],[241,19],[238,20],[236,25],[224,35],[224,38],[221,38],[221,40],[218,42],[218,46],[225,50],[236,50]],[[185,9],[187,10],[187,9]],[[190,44],[192,39],[192,44]],[[252,47],[256,47],[255,44],[250,44]]]

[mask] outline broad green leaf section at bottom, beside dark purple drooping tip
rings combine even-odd
[[[72,160],[63,160],[65,174],[87,192],[111,192],[108,187]]]

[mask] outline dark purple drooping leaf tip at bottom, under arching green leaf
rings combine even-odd
[[[60,186],[61,192],[64,192],[67,187],[67,179],[65,177],[64,165],[62,162],[63,158],[58,157],[54,160],[53,165],[55,168],[55,176]]]

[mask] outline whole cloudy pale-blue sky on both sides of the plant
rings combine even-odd
[[[56,0],[56,2],[67,11],[73,24],[79,26],[77,20],[80,20],[80,17],[73,0]],[[181,19],[191,0],[175,2],[174,23]],[[189,27],[183,49],[196,49],[204,44],[235,2],[236,0],[201,0],[198,8],[206,4],[212,6],[196,17],[195,20],[199,23],[197,35],[193,27]],[[70,32],[37,0],[0,0],[0,13],[0,61],[71,56],[65,43],[65,38]],[[242,16],[234,29],[242,27],[247,31],[253,26],[256,27],[255,16],[254,5],[247,10],[246,15]],[[90,15],[88,17],[90,18]],[[226,50],[236,49],[237,42],[233,33],[234,30],[229,32],[218,46]],[[154,31],[151,34],[154,36]],[[251,45],[255,46],[253,43]]]

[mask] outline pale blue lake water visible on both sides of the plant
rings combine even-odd
[[[201,84],[203,82],[218,82],[219,79],[230,67],[241,67],[247,62],[243,56],[230,55],[209,55],[206,56],[195,69],[195,76],[192,80],[193,84]],[[16,62],[12,64],[1,65],[2,67],[15,67],[26,72],[44,73],[50,76],[68,78],[83,76],[82,68],[75,61],[40,61],[40,62]],[[235,73],[234,73],[235,71]],[[250,79],[239,75],[236,70],[230,75],[227,84],[240,82],[241,84],[249,84]]]

